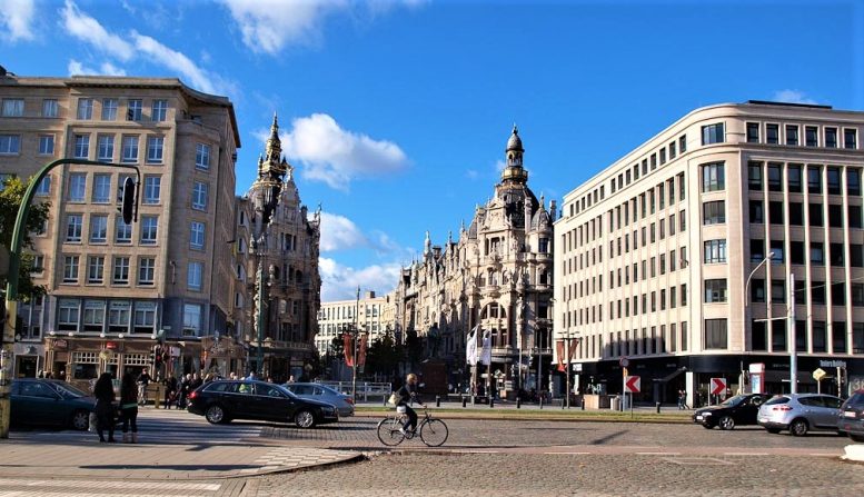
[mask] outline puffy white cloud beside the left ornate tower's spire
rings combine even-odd
[[[396,143],[345,130],[326,113],[295,119],[291,126],[281,136],[286,156],[304,166],[305,178],[330,188],[347,190],[355,178],[394,173],[408,166]]]

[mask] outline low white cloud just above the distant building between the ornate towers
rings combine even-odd
[[[342,266],[334,259],[320,257],[318,270],[321,275],[321,301],[329,302],[355,298],[358,286],[361,291],[375,290],[376,295],[391,291],[399,282],[401,265],[389,262],[352,268]]]

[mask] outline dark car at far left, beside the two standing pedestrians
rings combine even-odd
[[[12,380],[11,424],[86,430],[96,399],[58,379]]]

